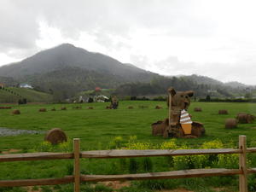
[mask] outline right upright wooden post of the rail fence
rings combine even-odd
[[[239,155],[239,169],[242,174],[239,175],[239,191],[247,192],[247,137],[239,136],[239,148],[241,154]]]

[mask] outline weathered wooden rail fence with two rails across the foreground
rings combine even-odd
[[[247,148],[246,136],[239,137],[239,148],[212,148],[212,149],[177,149],[177,150],[96,150],[80,152],[79,139],[73,139],[73,153],[27,153],[3,154],[0,162],[20,160],[63,160],[73,159],[74,172],[72,176],[61,178],[0,180],[0,187],[55,185],[74,183],[74,191],[80,191],[81,182],[124,181],[143,179],[166,179],[184,177],[212,177],[239,175],[239,191],[247,192],[247,174],[256,173],[256,168],[247,169],[247,153],[256,153],[256,148]],[[196,154],[240,154],[239,169],[191,169],[173,172],[148,172],[125,175],[83,175],[80,174],[80,158],[132,158],[154,156],[177,156]]]

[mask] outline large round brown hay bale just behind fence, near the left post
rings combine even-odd
[[[60,128],[53,128],[46,133],[44,141],[48,141],[51,144],[67,142],[67,135]]]

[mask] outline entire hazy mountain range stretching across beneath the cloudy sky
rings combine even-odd
[[[117,92],[124,96],[166,94],[170,86],[176,90],[195,90],[195,95],[201,97],[241,96],[247,89],[245,84],[224,84],[195,74],[160,76],[73,44],[61,44],[23,61],[0,67],[0,83],[32,84],[35,90],[52,94],[55,101],[74,96],[83,90],[94,90],[98,86],[117,88]],[[255,90],[255,87],[252,89]]]

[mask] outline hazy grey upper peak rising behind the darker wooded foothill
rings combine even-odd
[[[108,55],[89,52],[75,47],[73,44],[61,44],[32,55],[23,61],[0,67],[0,76],[28,80],[27,76],[37,76],[69,67],[119,76],[120,79],[134,82],[147,82],[157,75],[131,64],[123,64]]]

